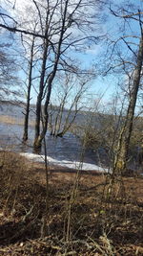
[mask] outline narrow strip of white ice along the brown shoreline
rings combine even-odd
[[[20,155],[25,156],[26,158],[34,161],[34,162],[44,162],[45,161],[45,156],[44,155],[38,155],[34,153],[29,153],[29,152],[21,152]],[[51,165],[58,165],[62,167],[67,167],[70,169],[80,169],[80,170],[85,170],[85,171],[98,171],[100,173],[108,173],[108,169],[99,167],[94,164],[89,164],[89,163],[81,163],[77,161],[68,161],[68,160],[57,160],[52,158],[51,156],[47,156],[47,160]]]

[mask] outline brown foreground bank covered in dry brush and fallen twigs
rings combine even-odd
[[[0,151],[0,255],[143,255],[143,176],[48,172]]]

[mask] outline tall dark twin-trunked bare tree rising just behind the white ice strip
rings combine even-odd
[[[36,5],[40,16],[41,27],[43,28],[43,19],[40,8],[36,1],[33,1]],[[73,65],[72,58],[69,58],[67,53],[70,50],[78,50],[81,47],[87,45],[87,42],[95,42],[97,38],[92,35],[88,35],[87,26],[91,25],[88,14],[84,13],[86,1],[72,1],[67,0],[65,2],[55,1],[54,5],[51,1],[48,1],[47,7],[44,7],[46,11],[45,25],[44,25],[44,48],[41,67],[41,78],[39,83],[39,93],[36,104],[36,124],[35,124],[35,139],[34,148],[41,147],[41,142],[47,132],[48,128],[48,106],[51,99],[52,82],[59,70],[69,69],[72,72],[76,72],[77,67]],[[91,8],[93,2],[88,6]],[[85,16],[84,22],[81,13]],[[73,35],[72,30],[78,32],[79,35]],[[86,36],[83,36],[83,31]],[[52,41],[52,43],[51,43]],[[69,62],[70,59],[70,62]],[[47,62],[49,65],[47,66]],[[80,71],[79,71],[80,72]],[[41,102],[45,97],[43,107],[43,128],[40,132],[40,114],[41,114]]]

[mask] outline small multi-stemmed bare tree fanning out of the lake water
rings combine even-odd
[[[58,106],[55,110],[51,107],[50,111],[52,136],[62,137],[72,128],[78,112],[84,107],[82,101],[86,97],[91,80],[92,75],[89,78],[87,75],[79,77],[76,74],[66,73],[56,81],[54,95],[57,97],[55,99],[52,97],[52,99]]]

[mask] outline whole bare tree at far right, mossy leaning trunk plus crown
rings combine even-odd
[[[137,5],[137,3],[136,3]],[[135,8],[137,9],[135,12]],[[133,117],[137,95],[139,92],[142,78],[142,62],[143,62],[143,12],[139,7],[133,6],[130,3],[125,3],[124,8],[119,8],[114,11],[111,8],[112,14],[121,20],[124,29],[120,30],[122,35],[117,39],[111,39],[112,56],[111,65],[108,71],[120,71],[124,76],[125,93],[128,97],[127,113],[124,117],[123,126],[120,128],[120,134],[115,148],[115,156],[113,163],[113,173],[122,173],[126,170],[128,164],[128,153],[130,140],[133,130]],[[133,34],[132,26],[138,24],[136,34]],[[130,33],[130,34],[129,34]],[[124,48],[123,48],[124,47]],[[121,50],[125,49],[126,50]],[[121,69],[122,68],[122,69]],[[117,73],[116,73],[117,74]],[[126,81],[125,81],[126,77]]]

